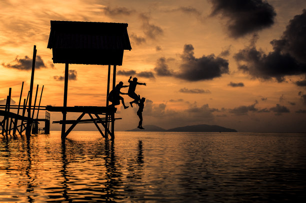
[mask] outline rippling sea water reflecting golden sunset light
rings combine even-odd
[[[306,134],[0,137],[0,202],[305,202]]]

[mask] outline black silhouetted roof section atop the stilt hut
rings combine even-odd
[[[121,65],[131,46],[127,23],[51,20],[47,48],[54,63]]]

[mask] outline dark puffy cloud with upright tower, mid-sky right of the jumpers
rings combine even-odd
[[[214,54],[196,58],[193,50],[191,44],[184,45],[183,53],[180,55],[179,71],[175,72],[170,69],[164,57],[157,59],[154,71],[159,76],[172,76],[187,81],[211,80],[215,77],[221,77],[222,74],[228,74],[226,59],[215,57]]]

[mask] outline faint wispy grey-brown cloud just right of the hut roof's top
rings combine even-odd
[[[140,13],[139,17],[142,20],[142,29],[145,36],[150,39],[156,39],[156,37],[163,34],[163,30],[159,26],[150,23],[150,18],[145,13]]]

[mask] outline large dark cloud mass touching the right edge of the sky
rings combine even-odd
[[[268,54],[257,50],[255,44],[239,50],[234,55],[238,68],[254,78],[284,81],[285,76],[306,73],[306,10],[295,15],[279,40],[272,40],[273,51]],[[254,37],[255,38],[255,37]],[[305,82],[297,81],[303,86]]]

